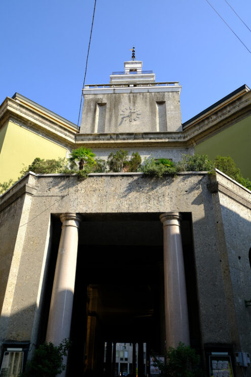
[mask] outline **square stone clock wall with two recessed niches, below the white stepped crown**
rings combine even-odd
[[[80,133],[182,131],[180,87],[158,90],[93,89],[85,94]]]

